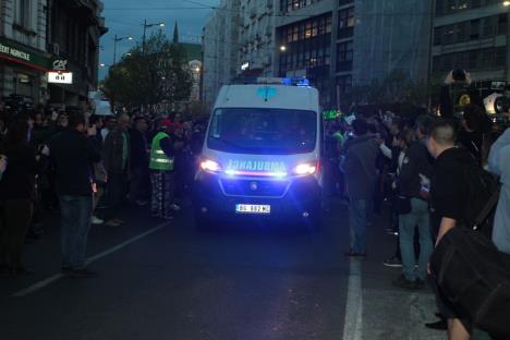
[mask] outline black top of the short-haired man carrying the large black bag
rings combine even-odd
[[[463,168],[475,165],[475,159],[464,148],[453,147],[444,151],[436,160],[430,183],[433,206],[440,217],[464,219],[467,206],[467,183]]]

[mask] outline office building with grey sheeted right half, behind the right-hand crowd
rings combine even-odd
[[[306,76],[323,107],[394,70],[428,76],[432,0],[280,0],[282,76]]]

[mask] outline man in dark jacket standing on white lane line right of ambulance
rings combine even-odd
[[[367,136],[366,121],[356,119],[352,127],[356,137],[345,144],[347,157],[342,165],[350,197],[351,248],[345,255],[365,256],[366,223],[377,181],[376,159],[379,145],[372,136]]]

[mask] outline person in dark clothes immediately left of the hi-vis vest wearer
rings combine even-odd
[[[147,121],[143,117],[134,119],[134,127],[130,129],[131,142],[131,187],[130,201],[136,205],[147,204],[149,186],[148,154],[147,154]]]

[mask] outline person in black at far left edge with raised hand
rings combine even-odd
[[[36,155],[29,145],[31,126],[17,118],[8,126],[0,146],[7,158],[7,169],[0,180],[0,276],[27,274],[22,254],[34,211],[35,180],[46,165],[49,149],[39,148]]]

